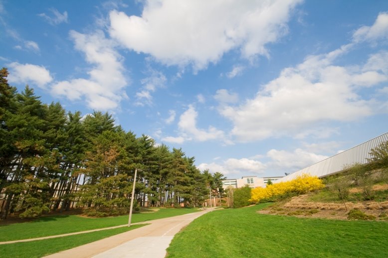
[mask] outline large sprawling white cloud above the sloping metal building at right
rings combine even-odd
[[[386,14],[380,14],[375,25],[384,23],[383,18]],[[219,109],[233,123],[232,135],[240,141],[284,135],[301,138],[315,134],[314,127],[321,123],[355,121],[377,112],[376,102],[363,99],[357,91],[360,86],[388,81],[387,52],[371,55],[364,66],[336,65],[338,57],[354,46],[352,42],[327,54],[308,56],[303,63],[283,69],[244,104]],[[216,98],[222,99],[222,94],[217,92]]]

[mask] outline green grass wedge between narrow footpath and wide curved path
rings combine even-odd
[[[102,230],[92,233],[38,240],[0,246],[1,258],[35,258],[54,254],[63,250],[85,245],[103,238],[117,235],[145,225],[133,225],[130,228]]]

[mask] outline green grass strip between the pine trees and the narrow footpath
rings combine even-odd
[[[161,208],[154,213],[132,215],[132,223],[162,219],[196,212],[194,208]],[[108,218],[85,218],[77,215],[52,216],[32,222],[16,223],[0,227],[0,242],[54,236],[72,232],[113,227],[128,223],[128,215]]]

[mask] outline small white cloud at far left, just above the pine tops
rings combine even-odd
[[[13,62],[7,65],[9,68],[8,81],[10,83],[31,83],[40,88],[50,83],[53,79],[50,72],[44,67],[32,64],[19,64]]]

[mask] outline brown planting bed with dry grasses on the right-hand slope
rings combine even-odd
[[[321,203],[308,201],[308,194],[292,197],[287,202],[279,202],[263,210],[261,214],[284,215],[295,217],[311,217],[347,220],[348,212],[352,209],[363,211],[367,215],[373,215],[378,221],[387,221],[388,201],[365,201],[358,203]]]

